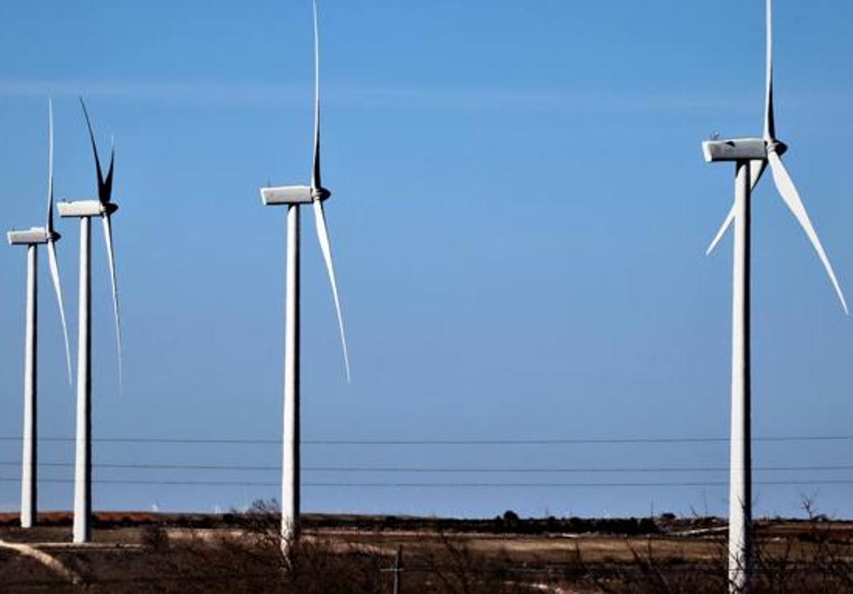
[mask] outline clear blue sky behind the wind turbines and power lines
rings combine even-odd
[[[734,16],[738,18],[733,18]],[[733,167],[712,131],[759,134],[763,2],[334,2],[321,5],[323,180],[351,347],[346,385],[312,215],[304,213],[306,440],[725,438],[731,238],[705,247]],[[845,158],[853,6],[775,7],[786,164],[853,294]],[[77,96],[116,143],[125,327],[118,393],[109,281],[94,252],[96,438],[281,435],[284,212],[258,187],[310,172],[310,3],[3,3],[0,195],[7,228],[42,224],[47,101],[57,196],[94,195]],[[853,326],[765,178],[754,201],[754,434],[850,432]],[[76,337],[78,229],[61,221]],[[73,390],[41,271],[40,430],[73,436]],[[20,435],[25,257],[0,250],[0,435]],[[0,441],[3,477],[20,447]],[[42,460],[73,459],[47,442]],[[725,468],[724,442],[306,444],[310,468]],[[97,442],[96,464],[275,466],[275,444]],[[850,516],[850,441],[759,441],[758,514],[803,496]],[[67,479],[64,467],[42,476]],[[276,483],[275,471],[96,468],[98,480]],[[692,483],[690,486],[306,486],[306,511],[455,515],[723,514],[727,473],[376,473],[308,483]],[[696,484],[699,483],[699,484]],[[717,485],[705,485],[717,483]],[[809,484],[810,483],[810,484]],[[721,486],[722,485],[722,486]],[[96,485],[107,509],[227,509],[275,486]],[[0,482],[15,509],[19,486]],[[71,506],[45,483],[42,503]]]

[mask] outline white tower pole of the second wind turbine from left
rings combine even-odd
[[[74,466],[75,543],[91,538],[92,512],[92,364],[91,364],[91,220],[80,218],[80,295],[77,342],[77,454]]]

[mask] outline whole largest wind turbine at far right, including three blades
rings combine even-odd
[[[766,166],[770,166],[776,189],[823,262],[841,306],[847,313],[844,294],[838,286],[833,266],[815,233],[809,214],[780,156],[787,146],[776,137],[773,108],[773,0],[767,0],[767,88],[764,105],[764,133],[757,138],[714,139],[702,143],[707,162],[734,161],[734,205],[708,253],[717,246],[734,222],[734,288],[732,307],[732,412],[728,494],[728,578],[729,591],[750,587],[752,563],[751,524],[751,419],[750,419],[750,202],[751,191]]]

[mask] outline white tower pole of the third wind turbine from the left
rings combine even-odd
[[[287,206],[286,274],[281,552],[287,559],[299,538],[299,204]]]

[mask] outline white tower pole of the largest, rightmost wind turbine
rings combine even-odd
[[[729,591],[749,591],[752,543],[750,414],[750,176],[749,161],[737,161],[734,188],[734,279],[732,300],[732,411],[728,487]]]

